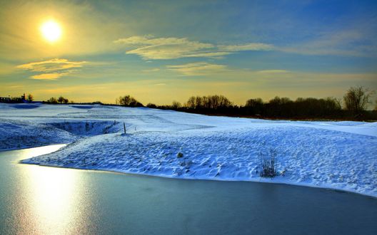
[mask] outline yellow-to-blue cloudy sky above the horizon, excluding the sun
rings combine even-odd
[[[377,90],[376,38],[377,1],[0,0],[0,97],[341,98]]]

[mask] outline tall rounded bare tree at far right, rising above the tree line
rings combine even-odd
[[[362,113],[370,103],[371,94],[371,91],[363,86],[349,88],[346,95],[343,96],[346,110],[356,115]]]

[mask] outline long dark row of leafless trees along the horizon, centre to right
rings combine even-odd
[[[287,119],[351,119],[377,120],[377,100],[374,111],[368,111],[373,92],[364,87],[351,87],[338,98],[280,98],[276,96],[267,102],[252,98],[245,105],[234,105],[223,95],[191,96],[183,105],[173,101],[171,105],[149,103],[148,108],[179,110],[207,115],[229,115],[241,117],[266,117]],[[119,105],[143,106],[129,95],[117,99]]]

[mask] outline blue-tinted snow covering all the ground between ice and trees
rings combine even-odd
[[[24,105],[0,104],[0,150],[69,145],[23,163],[298,184],[377,197],[377,122],[272,121],[149,108]],[[262,178],[261,156],[273,152],[279,175]]]

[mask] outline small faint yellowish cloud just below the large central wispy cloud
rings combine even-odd
[[[170,71],[176,71],[182,75],[188,76],[211,75],[213,73],[221,73],[226,71],[226,66],[206,62],[186,63],[184,65],[166,67]]]

